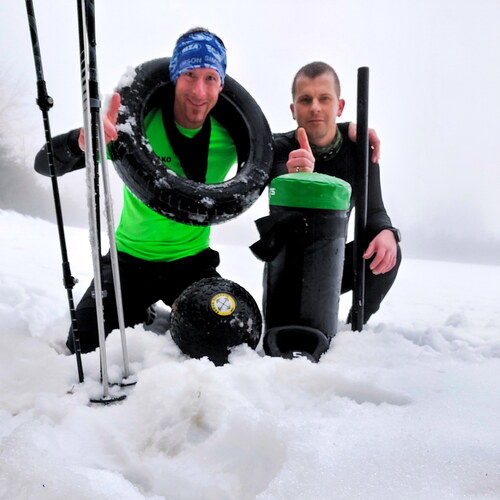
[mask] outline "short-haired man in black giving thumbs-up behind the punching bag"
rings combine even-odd
[[[340,97],[335,70],[324,62],[302,67],[293,80],[290,105],[298,129],[275,134],[271,177],[292,172],[319,172],[343,179],[355,186],[355,144],[348,140],[347,124],[337,124],[345,101]],[[374,157],[375,156],[375,157]],[[363,254],[365,275],[364,321],[375,313],[391,288],[401,262],[400,233],[393,227],[382,201],[378,152],[368,166],[368,213]],[[356,206],[353,189],[350,210]],[[346,246],[342,293],[353,287],[353,244]],[[350,322],[350,313],[348,317]]]

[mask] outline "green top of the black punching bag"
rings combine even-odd
[[[350,200],[348,182],[315,172],[280,175],[269,186],[269,204],[273,206],[347,210]]]

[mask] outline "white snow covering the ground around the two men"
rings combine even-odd
[[[239,348],[215,367],[128,329],[138,383],[96,406],[98,354],[84,384],[65,355],[55,226],[0,211],[0,233],[0,498],[500,498],[500,267],[405,260],[367,328],[342,323],[317,365]],[[79,300],[87,234],[67,238]],[[260,263],[219,250],[260,302]],[[118,381],[116,332],[107,347]]]

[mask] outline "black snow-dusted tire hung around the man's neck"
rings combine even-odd
[[[252,96],[226,76],[212,115],[235,142],[238,171],[217,184],[179,177],[152,152],[144,132],[144,117],[173,85],[168,65],[168,58],[141,64],[130,85],[118,90],[122,106],[111,159],[123,182],[149,208],[184,224],[219,224],[249,208],[266,187],[273,158],[271,130]]]

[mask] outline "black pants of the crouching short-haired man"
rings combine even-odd
[[[396,280],[399,266],[401,264],[401,248],[398,245],[396,265],[385,274],[373,274],[371,272],[369,265],[374,258],[375,256],[367,260],[365,265],[365,323],[370,319],[372,314],[379,310],[382,300],[384,300],[384,297],[387,295],[387,292]],[[344,273],[342,275],[341,293],[352,290],[354,281],[353,260],[354,243],[350,242],[345,247]],[[350,317],[351,314],[349,313],[348,322],[350,322]]]

